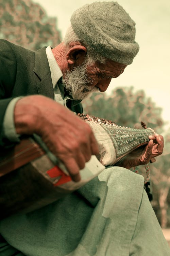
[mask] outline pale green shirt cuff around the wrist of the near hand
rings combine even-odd
[[[6,108],[4,119],[3,119],[4,135],[11,142],[20,142],[20,140],[19,140],[20,135],[17,134],[16,130],[15,130],[14,108],[15,108],[15,104],[17,103],[17,101],[21,98],[23,98],[23,97],[17,97],[10,101],[10,103],[8,104],[8,106]]]

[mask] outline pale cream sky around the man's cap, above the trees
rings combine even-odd
[[[34,0],[49,16],[58,19],[57,27],[64,37],[71,14],[95,0]],[[170,0],[117,0],[136,22],[139,53],[123,74],[113,79],[107,93],[117,86],[143,89],[157,106],[170,126]]]

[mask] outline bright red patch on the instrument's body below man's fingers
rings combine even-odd
[[[69,181],[71,181],[71,177],[66,175],[58,166],[54,166],[52,169],[47,171],[47,174],[51,177],[51,178],[56,178],[61,176],[60,180],[57,181],[54,186],[59,186],[62,185],[64,183],[67,183]]]

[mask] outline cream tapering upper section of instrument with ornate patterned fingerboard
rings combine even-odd
[[[104,166],[114,165],[136,148],[148,144],[149,135],[155,133],[151,128],[133,129],[115,124],[87,122],[99,144],[98,159]]]

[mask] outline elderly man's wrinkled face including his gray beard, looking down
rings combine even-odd
[[[107,60],[104,64],[96,61],[93,65],[85,61],[73,70],[67,70],[63,82],[74,100],[83,100],[89,93],[105,91],[112,78],[123,73],[126,66],[113,60]]]

